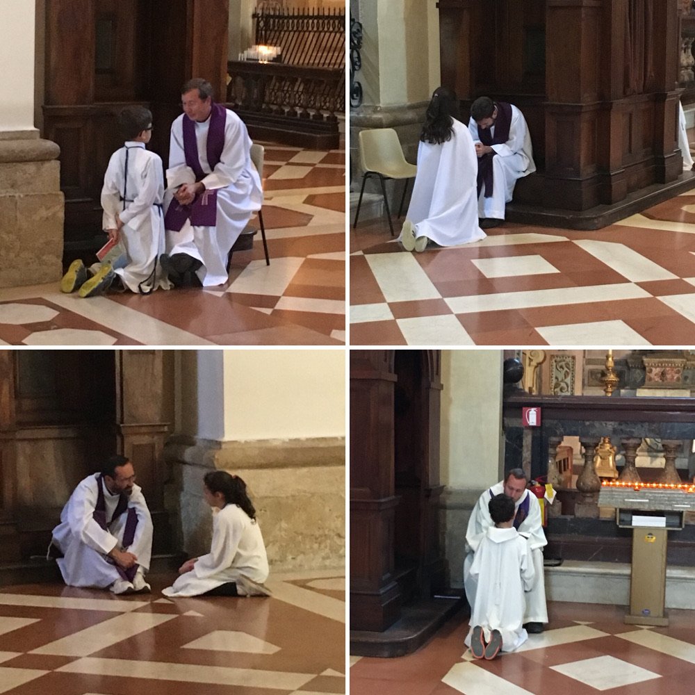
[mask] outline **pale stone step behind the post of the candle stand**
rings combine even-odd
[[[630,564],[565,560],[546,567],[546,598],[571,603],[630,605]],[[695,567],[667,566],[666,608],[695,609]]]

